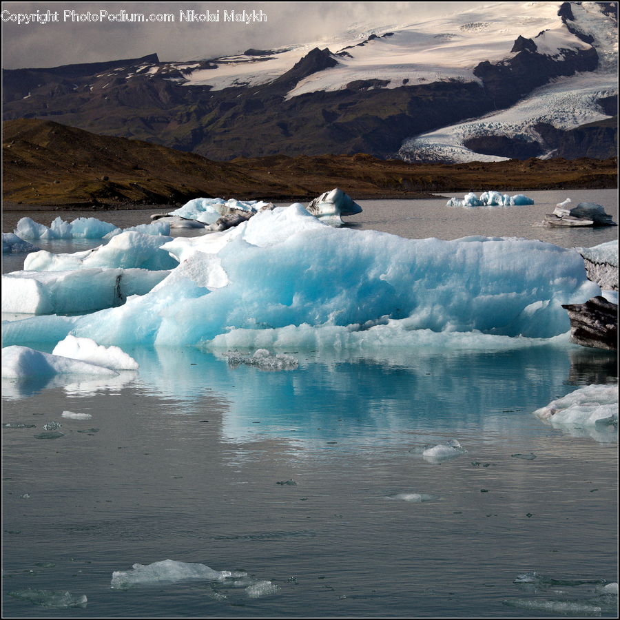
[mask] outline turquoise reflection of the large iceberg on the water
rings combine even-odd
[[[221,436],[242,443],[285,438],[333,449],[397,435],[397,442],[445,443],[479,425],[508,433],[531,424],[528,411],[549,402],[566,380],[564,347],[513,351],[296,351],[298,369],[265,373],[232,368],[199,349],[127,349],[140,364],[146,394],[180,403],[181,414],[221,411]],[[511,410],[507,412],[506,410]],[[260,424],[256,424],[260,422]],[[293,432],[294,429],[294,432]],[[412,429],[415,429],[413,433]],[[301,442],[301,443],[300,443]]]

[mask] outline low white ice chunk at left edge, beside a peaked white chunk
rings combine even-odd
[[[12,345],[2,349],[2,376],[9,379],[21,379],[33,375],[55,375],[58,373],[75,373],[82,375],[116,375],[109,368],[87,364],[81,360],[71,360],[60,355],[43,353],[29,347]]]

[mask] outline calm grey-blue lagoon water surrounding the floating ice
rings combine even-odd
[[[526,193],[577,202],[577,192]],[[587,194],[617,220],[617,204]],[[353,226],[565,234],[554,242],[566,247],[617,236],[531,227],[537,205],[485,214],[414,201],[405,215],[399,202],[362,201]],[[140,219],[117,219],[132,213]],[[196,348],[126,350],[140,369],[113,380],[3,381],[3,423],[36,425],[3,428],[4,617],[616,616],[588,580],[617,580],[617,432],[560,431],[531,415],[579,386],[617,383],[615,353],[291,350],[298,368],[267,372]],[[52,421],[63,436],[34,437]],[[453,439],[467,453],[422,457]],[[391,497],[401,493],[433,499]],[[279,590],[110,588],[113,571],[168,558],[245,570]],[[564,583],[513,583],[534,570]],[[54,609],[9,595],[27,588],[88,602]]]

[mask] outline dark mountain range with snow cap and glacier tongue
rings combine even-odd
[[[5,70],[3,118],[45,118],[218,161],[617,152],[614,2],[502,2],[265,47],[193,62],[151,54]]]

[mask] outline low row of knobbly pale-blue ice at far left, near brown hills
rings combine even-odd
[[[148,235],[168,235],[170,227],[166,223],[153,222],[126,228],[125,231],[138,231]],[[30,218],[21,218],[17,223],[14,234],[22,239],[111,239],[121,234],[114,224],[102,222],[96,218],[76,218],[72,222],[65,222],[56,218],[50,227],[39,224]]]

